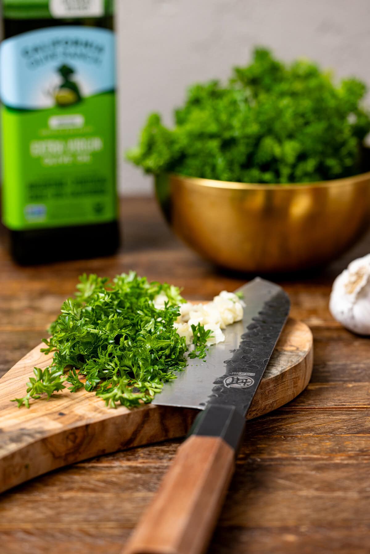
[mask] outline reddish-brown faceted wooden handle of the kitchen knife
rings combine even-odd
[[[123,554],[204,552],[234,473],[234,460],[234,450],[220,437],[186,439]]]

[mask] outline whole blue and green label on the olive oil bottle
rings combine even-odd
[[[114,220],[113,33],[53,27],[4,40],[0,79],[4,224]]]

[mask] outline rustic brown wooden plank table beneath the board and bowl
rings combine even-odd
[[[122,219],[124,247],[115,257],[35,268],[13,264],[1,232],[0,375],[40,342],[83,272],[134,269],[183,286],[189,299],[210,299],[246,280],[184,247],[153,199],[124,199]],[[324,273],[275,277],[290,294],[291,315],[312,329],[312,381],[295,401],[247,425],[209,552],[370,552],[370,340],[328,312],[334,277],[369,251],[370,234]],[[119,552],[179,444],[102,456],[3,494],[0,551]]]

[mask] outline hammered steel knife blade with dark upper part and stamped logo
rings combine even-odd
[[[235,293],[241,293],[246,304],[242,320],[226,327],[225,341],[209,349],[205,362],[188,358],[186,371],[166,383],[153,404],[205,409],[210,395],[212,402],[218,398],[222,403],[228,403],[232,396],[241,401],[240,411],[247,412],[285,324],[290,301],[280,286],[260,278]],[[268,324],[259,321],[257,327],[260,312]],[[248,371],[247,366],[251,366]],[[244,394],[232,394],[238,387]]]

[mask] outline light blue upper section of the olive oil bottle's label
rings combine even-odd
[[[53,27],[23,33],[1,44],[0,98],[8,107],[67,106],[114,88],[111,30]]]

